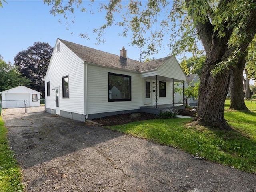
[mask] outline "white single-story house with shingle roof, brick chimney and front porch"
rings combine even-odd
[[[80,121],[174,105],[185,81],[174,56],[146,63],[57,39],[45,76],[46,111]]]

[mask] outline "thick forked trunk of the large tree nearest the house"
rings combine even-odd
[[[225,5],[225,1],[220,1],[218,8],[227,8]],[[238,36],[246,37],[246,39],[240,38],[242,43],[234,43],[232,46],[229,46],[228,42],[234,32],[234,28],[232,28],[229,22],[234,21],[227,20],[223,23],[225,29],[222,33],[224,33],[225,36],[220,38],[218,36],[218,30],[214,30],[214,25],[211,23],[211,19],[208,18],[211,13],[202,15],[200,11],[194,11],[198,7],[196,1],[193,0],[186,0],[186,6],[190,16],[196,21],[196,30],[206,52],[206,61],[202,68],[198,94],[198,111],[195,120],[200,124],[218,127],[222,130],[229,130],[231,127],[224,119],[224,105],[228,93],[228,85],[230,83],[230,70],[228,70],[228,67],[231,67],[231,64],[227,67],[223,66],[221,62],[228,61],[236,51],[239,53],[246,51],[256,34],[256,10],[248,10],[250,14],[244,21],[244,27],[240,28],[238,32],[236,31]],[[200,17],[204,18],[203,22],[198,20]],[[237,55],[238,54],[236,54],[236,56]],[[237,64],[239,65],[239,63]],[[221,71],[213,75],[211,72],[216,67],[221,68]],[[232,92],[232,94],[234,94],[234,92]]]

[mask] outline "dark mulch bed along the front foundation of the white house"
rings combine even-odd
[[[178,110],[178,114],[194,117],[196,112],[192,112],[191,109],[185,108],[185,109]],[[109,125],[122,125],[130,122],[143,121],[143,120],[155,119],[155,118],[159,118],[159,117],[156,116],[155,114],[140,113],[139,117],[132,118],[131,113],[126,113],[126,114],[107,116],[99,119],[93,119],[92,121],[100,123],[104,126],[109,126]]]

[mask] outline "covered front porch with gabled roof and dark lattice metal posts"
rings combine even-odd
[[[140,110],[159,113],[163,109],[178,108],[184,105],[184,82],[186,76],[174,56],[146,62],[151,70],[140,72],[144,79],[143,104]],[[156,68],[153,68],[156,67]],[[181,82],[182,95],[179,105],[174,103],[175,82]]]

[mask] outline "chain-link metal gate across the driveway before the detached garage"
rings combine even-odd
[[[40,103],[33,105],[33,102]],[[0,115],[30,114],[45,111],[45,99],[4,100],[0,102]]]

